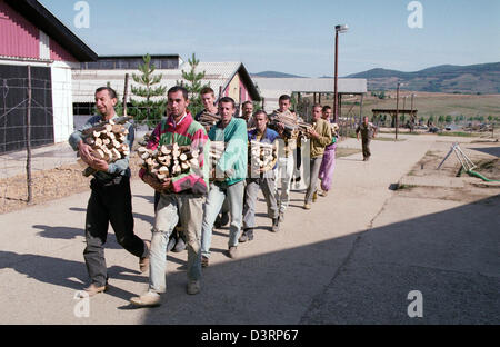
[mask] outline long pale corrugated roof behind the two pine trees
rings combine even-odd
[[[234,73],[238,72],[241,62],[207,62],[200,61],[197,67],[197,72],[206,72],[206,78],[201,80],[202,83],[210,83],[210,87],[219,95],[219,88],[226,88]],[[154,73],[161,73],[161,86],[167,89],[177,85],[182,79],[182,70],[186,72],[191,70],[188,62],[184,62],[179,69],[157,69]],[[120,98],[123,96],[124,76],[130,75],[129,79],[129,96],[130,86],[138,85],[132,80],[132,73],[138,75],[138,70],[72,70],[73,75],[73,102],[93,102],[93,93],[97,88],[106,86],[110,82],[111,88],[117,90]]]

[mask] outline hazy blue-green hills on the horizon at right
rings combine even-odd
[[[347,76],[366,78],[369,90],[401,89],[456,93],[500,93],[500,62],[471,66],[443,65],[416,72],[371,69]]]

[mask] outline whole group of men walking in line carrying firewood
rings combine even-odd
[[[133,234],[133,216],[130,191],[129,157],[108,163],[93,158],[90,147],[82,138],[82,131],[101,120],[117,117],[114,106],[118,101],[114,90],[109,87],[96,91],[96,106],[100,116],[92,117],[82,129],[74,131],[69,142],[79,151],[81,159],[97,170],[91,181],[91,196],[86,216],[87,247],[83,251],[91,284],[84,290],[89,296],[108,289],[108,276],[103,245],[108,225],[114,229],[118,242],[139,258],[142,272],[149,269],[148,290],[131,298],[139,307],[161,304],[161,294],[166,291],[167,247],[169,237],[176,227],[180,227],[188,249],[187,293],[201,290],[202,267],[209,266],[212,229],[220,214],[229,218],[229,240],[227,255],[238,257],[239,242],[254,238],[256,205],[259,190],[262,191],[271,230],[279,231],[284,211],[290,201],[290,187],[297,160],[301,160],[302,138],[310,140],[310,180],[304,196],[304,209],[318,196],[318,180],[321,179],[321,194],[326,196],[331,188],[334,169],[336,133],[334,125],[329,121],[331,109],[314,105],[311,126],[300,136],[290,137],[284,126],[278,122],[276,129],[269,128],[269,120],[279,113],[297,115],[289,110],[290,97],[281,96],[279,109],[268,116],[263,110],[253,112],[253,105],[242,105],[243,116],[237,118],[234,100],[223,97],[214,105],[214,93],[210,88],[201,92],[204,111],[217,111],[219,121],[206,129],[197,117],[188,111],[188,91],[180,86],[169,89],[168,115],[156,127],[147,147],[156,150],[162,145],[177,142],[190,146],[199,152],[198,165],[189,171],[160,182],[146,169],[139,177],[156,191],[156,212],[151,241],[141,240]],[[129,129],[128,143],[132,148],[133,127]],[[208,131],[207,131],[208,130]],[[211,141],[224,143],[224,150],[214,162],[209,158]],[[277,157],[266,168],[249,174],[249,143],[262,142],[274,147]],[[281,191],[277,188],[280,177]],[[296,175],[297,177],[297,175]]]

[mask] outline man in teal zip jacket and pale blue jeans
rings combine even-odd
[[[210,185],[210,191],[204,205],[204,216],[201,231],[201,265],[208,266],[212,227],[226,198],[229,200],[231,225],[229,227],[229,257],[237,257],[238,238],[240,237],[244,179],[247,178],[248,136],[247,123],[234,115],[234,100],[223,97],[219,100],[221,120],[210,129],[211,141],[223,141],[224,151],[213,165],[216,180]]]

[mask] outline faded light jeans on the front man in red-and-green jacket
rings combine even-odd
[[[181,222],[188,244],[188,279],[201,278],[200,232],[203,216],[203,200],[199,195],[162,194],[158,201],[152,228],[149,256],[149,289],[166,290],[167,244],[177,224]]]

